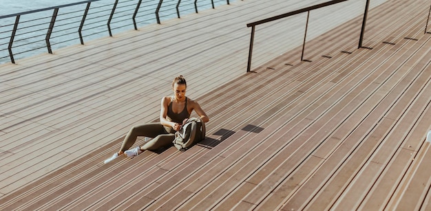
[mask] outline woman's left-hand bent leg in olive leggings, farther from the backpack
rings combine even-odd
[[[124,151],[127,151],[130,147],[132,147],[133,144],[135,144],[136,138],[138,136],[158,137],[158,135],[165,133],[167,132],[160,123],[148,123],[132,126],[132,129],[130,129],[129,133],[127,133],[125,139],[123,140],[123,145],[121,146],[118,154],[121,155],[124,153]]]

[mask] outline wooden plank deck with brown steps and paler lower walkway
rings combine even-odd
[[[429,2],[374,1],[361,49],[364,3],[311,12],[311,62],[304,16],[257,28],[245,74],[245,23],[315,3],[271,2],[2,65],[0,210],[431,210]],[[207,139],[104,165],[179,74]]]

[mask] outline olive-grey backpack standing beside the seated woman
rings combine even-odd
[[[186,151],[194,144],[205,139],[205,123],[200,118],[190,118],[175,133],[174,146]]]

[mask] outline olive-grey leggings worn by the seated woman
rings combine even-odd
[[[162,146],[169,146],[175,139],[174,133],[166,131],[165,126],[160,123],[148,123],[132,126],[123,140],[120,151],[127,151],[136,142],[136,137],[145,136],[153,139],[140,147],[142,150],[156,150]]]

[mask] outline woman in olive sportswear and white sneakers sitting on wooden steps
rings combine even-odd
[[[160,123],[147,123],[133,126],[123,140],[123,145],[118,153],[105,160],[105,164],[111,162],[120,155],[135,157],[146,150],[156,150],[162,146],[169,146],[175,139],[175,132],[178,131],[182,122],[190,118],[191,111],[196,111],[204,122],[208,122],[207,114],[200,108],[198,102],[185,96],[187,84],[182,76],[178,76],[172,82],[174,96],[162,98],[160,109]],[[143,146],[136,146],[129,149],[136,142],[136,137],[145,136],[153,139],[146,142]]]

